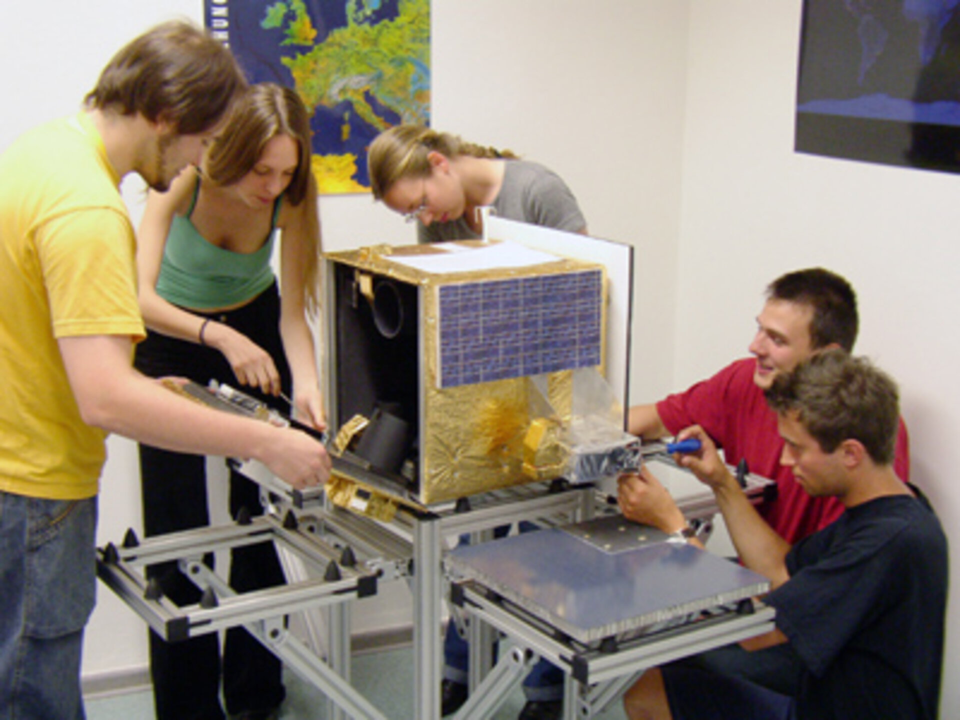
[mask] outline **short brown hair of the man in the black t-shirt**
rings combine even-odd
[[[893,463],[900,425],[897,384],[867,358],[839,348],[816,352],[778,375],[765,395],[777,413],[796,413],[824,452],[856,440],[877,465]]]

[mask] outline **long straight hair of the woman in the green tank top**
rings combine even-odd
[[[307,232],[303,293],[307,312],[316,313],[319,296],[320,218],[317,210],[317,183],[311,169],[310,113],[300,95],[290,87],[274,83],[251,86],[230,114],[227,127],[204,158],[204,177],[218,185],[239,182],[252,171],[267,143],[277,135],[292,137],[298,146],[297,169],[284,198],[291,205],[307,203],[310,229]]]

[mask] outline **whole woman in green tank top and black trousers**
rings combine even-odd
[[[277,289],[272,268],[279,237]],[[309,113],[292,89],[252,86],[204,156],[170,190],[148,195],[138,232],[140,305],[149,330],[135,364],[160,377],[215,379],[284,407],[324,429],[316,313],[321,248],[310,167]],[[209,523],[205,459],[140,445],[146,535]],[[259,489],[230,472],[230,513],[263,512]],[[178,605],[198,601],[176,566],[148,568]],[[239,591],[284,582],[272,543],[237,548],[230,584]],[[216,636],[167,644],[151,635],[156,717],[268,717],[283,701],[279,660],[241,628],[220,658]]]

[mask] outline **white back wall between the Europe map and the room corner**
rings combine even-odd
[[[552,167],[590,234],[636,246],[637,398],[671,387],[686,23],[676,0],[433,2],[434,127]]]

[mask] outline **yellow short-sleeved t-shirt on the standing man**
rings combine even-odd
[[[57,340],[144,336],[119,182],[85,113],[0,155],[0,491],[97,492],[106,434],[81,419]]]

